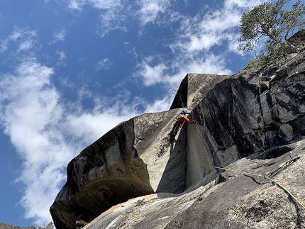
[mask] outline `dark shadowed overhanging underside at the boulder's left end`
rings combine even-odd
[[[114,204],[153,193],[138,157],[133,120],[113,128],[84,149],[67,167],[67,183],[50,208],[57,228],[93,220]]]

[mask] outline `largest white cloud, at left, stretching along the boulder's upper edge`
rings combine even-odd
[[[140,105],[150,112],[169,107],[168,98],[153,104],[135,99],[128,105],[126,92],[112,99],[87,93],[95,105],[85,111],[80,103],[63,102],[52,84],[54,73],[32,59],[0,76],[0,123],[23,158],[17,180],[25,186],[21,205],[37,225],[51,220],[48,210],[66,180],[65,167],[84,147],[139,115]]]

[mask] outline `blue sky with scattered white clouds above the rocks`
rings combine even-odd
[[[233,74],[260,0],[1,0],[0,223],[50,222],[66,166],[133,116],[165,111],[187,73]]]

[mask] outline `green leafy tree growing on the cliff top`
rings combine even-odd
[[[284,5],[290,1],[277,0],[273,4],[265,2],[245,11],[240,19],[241,38],[238,40],[238,50],[256,50],[257,41],[262,36],[268,38],[265,42],[267,54],[285,45],[296,49],[287,40],[294,30],[304,28],[305,6],[298,0],[292,5],[292,9],[285,10]]]

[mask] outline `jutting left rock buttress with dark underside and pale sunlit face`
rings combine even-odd
[[[189,74],[184,79],[186,92],[200,93],[185,102],[194,106],[194,101],[226,77]],[[131,118],[75,157],[67,167],[67,183],[50,208],[56,228],[75,228],[76,220],[89,222],[135,196],[182,193],[186,189],[187,124],[172,143],[169,135],[180,111],[173,106],[170,111]]]

